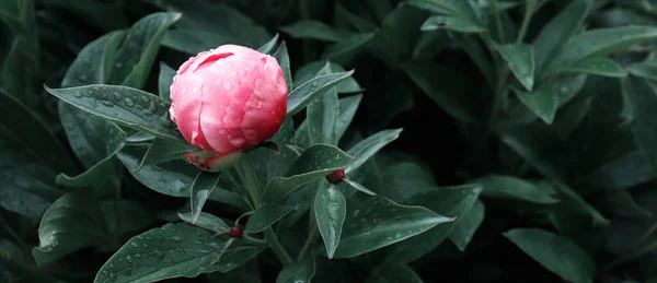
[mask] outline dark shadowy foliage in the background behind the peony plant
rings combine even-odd
[[[0,92],[5,97],[18,97],[25,110],[5,104],[7,98],[0,105],[3,155],[0,157],[0,281],[91,282],[101,266],[127,239],[161,226],[172,217],[177,219],[172,211],[187,204],[187,199],[149,190],[129,177],[127,168],[119,166],[117,176],[120,177],[114,179],[119,184],[114,186],[122,188],[118,197],[126,205],[135,205],[126,215],[146,220],[135,220],[135,226],[125,231],[107,227],[117,232],[116,237],[102,239],[99,241],[102,244],[79,249],[45,267],[37,268],[33,259],[32,248],[39,245],[37,229],[43,212],[61,191],[44,191],[34,187],[42,186],[43,179],[53,182],[61,172],[74,176],[90,166],[76,158],[62,128],[58,99],[49,95],[43,84],[61,86],[69,66],[82,48],[100,36],[129,28],[151,13],[180,10],[183,17],[164,35],[155,63],[140,89],[158,93],[158,62],[176,69],[197,51],[227,43],[255,48],[278,34],[279,40],[287,44],[295,75],[311,62],[323,66],[324,60],[345,70],[356,70],[354,78],[364,89],[356,93],[362,93],[362,101],[345,135],[349,139],[341,141],[343,145],[380,130],[404,129],[400,138],[382,151],[384,155],[372,162],[381,166],[389,161],[413,164],[391,166],[390,170],[384,170],[387,167],[373,169],[399,178],[395,182],[401,185],[399,190],[413,190],[413,186],[418,186],[415,178],[439,187],[482,181],[481,201],[485,213],[479,216],[481,225],[473,224],[472,229],[476,232],[465,243],[464,250],[445,240],[410,263],[425,282],[560,282],[564,280],[564,272],[565,276],[587,273],[580,272],[586,267],[574,263],[583,261],[595,264],[595,274],[589,275],[596,282],[657,282],[657,111],[654,108],[657,107],[657,1],[581,1],[589,2],[590,9],[581,26],[573,26],[577,28],[573,34],[629,25],[653,30],[642,35],[612,34],[579,47],[592,50],[595,46],[607,44],[609,37],[635,36],[609,44],[607,51],[593,56],[611,58],[622,67],[621,74],[614,69],[615,64],[608,69],[588,66],[588,69],[540,81],[544,85],[553,84],[551,95],[561,97],[549,121],[538,117],[535,109],[529,109],[527,103],[518,98],[515,90],[527,90],[509,70],[502,68],[506,64],[500,55],[486,50],[485,38],[476,33],[460,33],[458,27],[453,30],[449,25],[420,31],[423,23],[439,9],[422,9],[422,4],[413,2],[459,1],[2,0]],[[489,24],[482,28],[495,42],[508,44],[516,39],[528,3],[541,3],[522,39],[531,44],[544,26],[574,1],[463,2],[496,2],[506,38],[499,38],[496,16],[487,17]],[[217,13],[209,8],[218,4],[234,9],[238,15]],[[302,21],[314,24],[299,25]],[[553,40],[565,45],[567,39]],[[551,59],[558,58],[553,55],[548,61]],[[500,63],[495,66],[497,60]],[[493,69],[485,70],[483,66]],[[503,90],[498,92],[496,82],[504,72],[508,76],[503,78]],[[539,85],[538,76],[535,82]],[[491,110],[499,93],[505,99],[496,106],[499,108]],[[534,103],[539,104],[539,110],[550,108],[549,103]],[[47,141],[37,130],[20,137],[22,143],[12,143],[15,140],[12,129],[26,128],[27,132],[32,129],[27,121],[31,118],[24,119],[30,116],[27,113],[45,123],[59,144]],[[488,125],[489,117],[496,121],[493,129]],[[419,176],[425,172],[430,173],[428,177]],[[378,191],[376,181],[367,184]],[[537,200],[551,196],[560,202]],[[112,205],[111,200],[107,205]],[[240,214],[232,207],[217,202],[206,204],[204,210],[232,220]],[[93,226],[93,221],[88,225]],[[561,250],[572,246],[551,241],[552,238],[545,243],[540,237],[530,238],[527,241],[541,241],[533,246],[539,250],[523,250],[519,248],[522,240],[510,240],[512,236],[506,234],[516,228],[538,228],[561,235],[562,239],[569,240],[568,245],[574,244],[585,259],[564,259],[569,257],[568,251],[560,253]],[[556,255],[563,258],[534,260],[543,252],[541,247],[560,249]],[[313,281],[365,281],[371,275],[371,260],[377,260],[377,252],[368,259],[324,263],[337,268],[327,268],[324,273],[318,270]],[[211,273],[166,281],[254,282],[257,275],[254,270],[260,270],[262,282],[274,282],[280,266],[269,250],[263,255],[245,269],[228,273],[230,275]],[[561,264],[565,267],[560,268]],[[554,271],[555,267],[560,271]],[[337,276],[341,272],[344,279]]]

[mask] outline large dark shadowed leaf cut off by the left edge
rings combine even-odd
[[[21,103],[1,91],[0,125],[0,180],[3,182],[0,207],[39,219],[62,194],[55,187],[56,173],[76,174],[78,170],[57,138]]]

